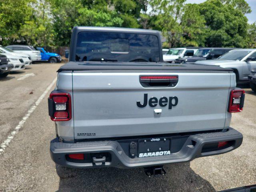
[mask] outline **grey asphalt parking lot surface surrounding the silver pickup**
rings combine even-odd
[[[0,191],[208,192],[256,184],[256,94],[244,85],[244,110],[232,114],[231,122],[244,135],[238,149],[164,166],[167,174],[161,177],[147,178],[142,168],[101,168],[69,169],[60,178],[49,153],[55,126],[47,98],[61,65],[32,64],[0,79],[0,145],[5,145],[0,150]]]

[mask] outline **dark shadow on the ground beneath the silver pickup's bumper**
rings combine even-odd
[[[215,191],[207,180],[190,168],[189,162],[170,164],[164,168],[166,175],[148,178],[143,168],[71,169],[57,165],[56,170],[60,176],[58,192]]]

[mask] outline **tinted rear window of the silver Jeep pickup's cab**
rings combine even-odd
[[[76,61],[158,62],[158,38],[153,35],[90,33],[78,34]]]

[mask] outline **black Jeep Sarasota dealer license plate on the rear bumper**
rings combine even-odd
[[[147,138],[138,140],[138,157],[170,155],[170,138]]]

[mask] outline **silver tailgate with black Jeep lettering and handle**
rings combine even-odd
[[[144,87],[140,76],[177,76],[178,83]],[[111,138],[222,129],[229,88],[227,72],[73,72],[74,136]],[[167,101],[162,99],[160,106],[163,97]]]

